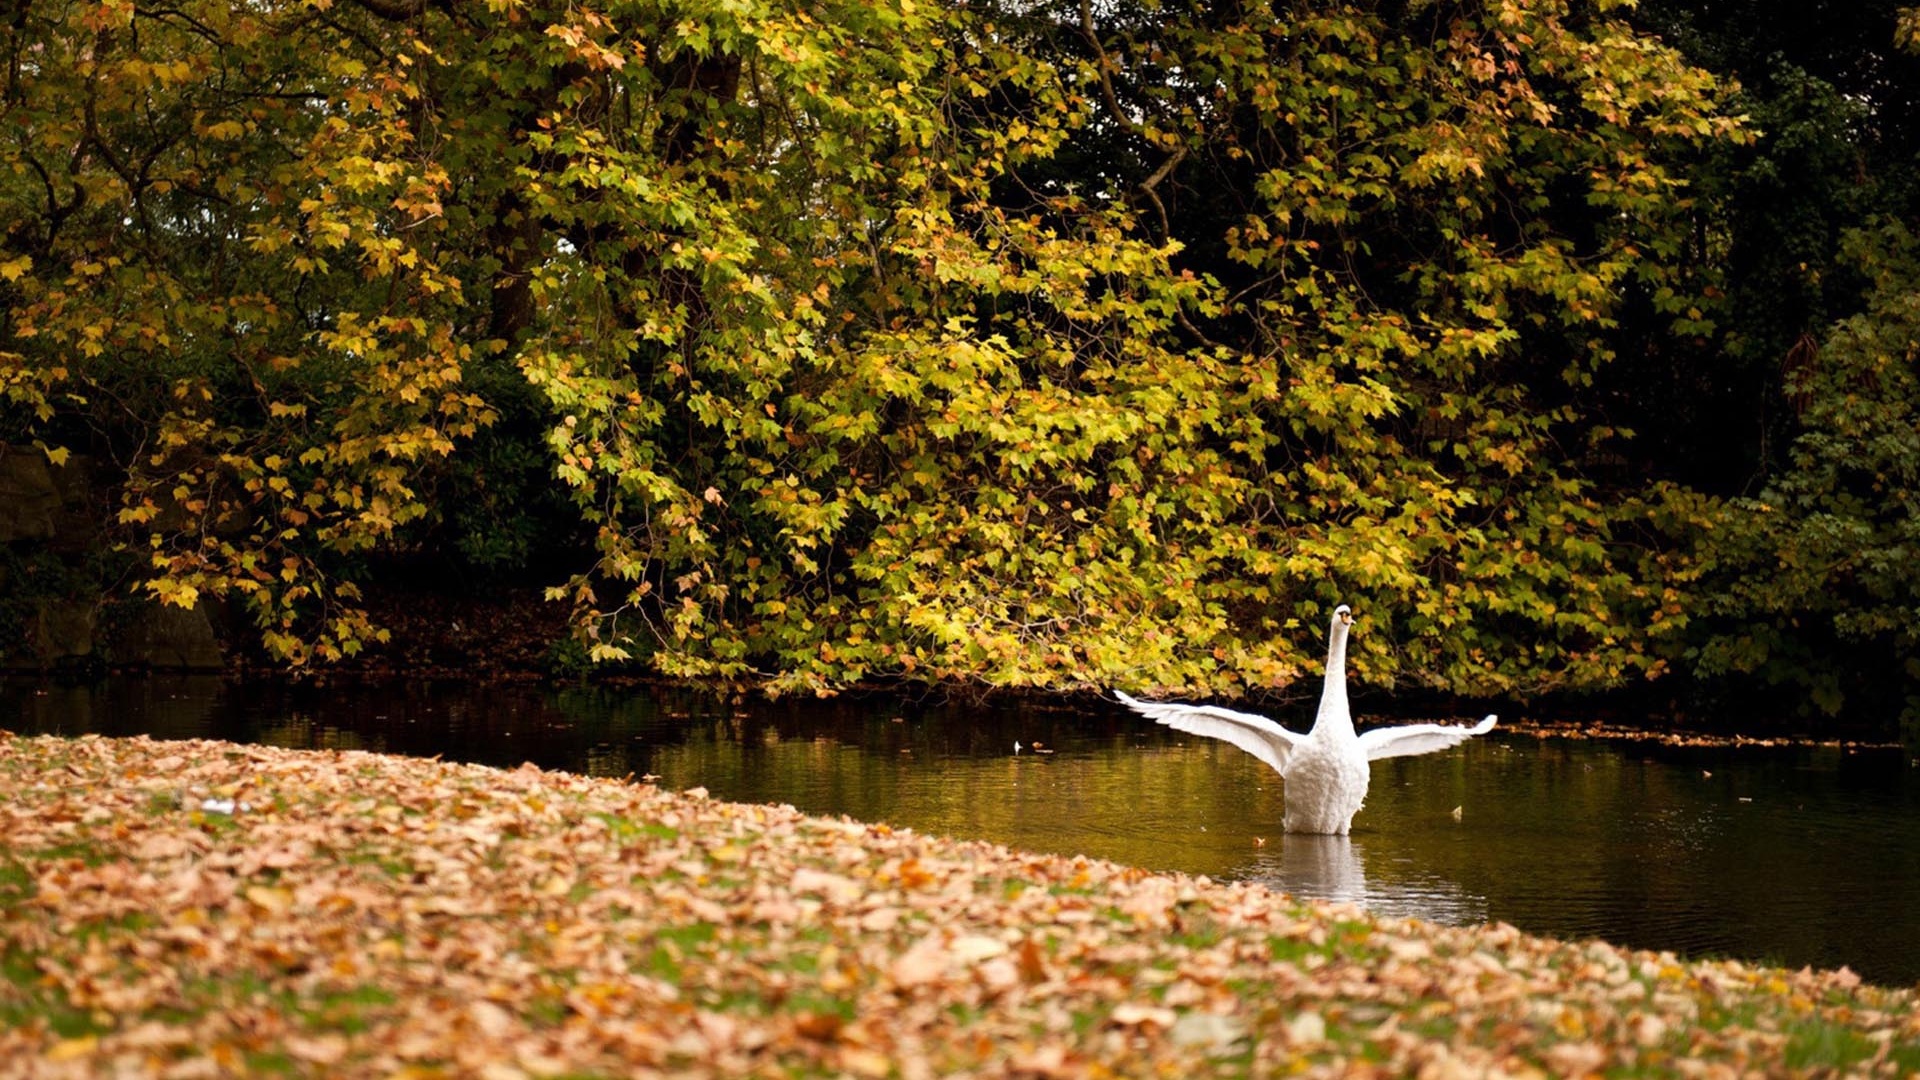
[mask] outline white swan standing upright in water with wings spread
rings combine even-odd
[[[1313,730],[1298,734],[1267,717],[1236,713],[1217,705],[1181,705],[1177,701],[1140,701],[1125,694],[1119,700],[1152,721],[1173,730],[1204,734],[1238,746],[1271,765],[1286,780],[1286,832],[1329,832],[1346,836],[1354,815],[1367,801],[1367,763],[1382,757],[1405,757],[1459,746],[1476,734],[1494,730],[1488,715],[1473,726],[1402,724],[1354,734],[1354,715],[1346,707],[1346,634],[1354,625],[1348,605],[1332,609],[1332,632],[1327,646],[1327,686]]]

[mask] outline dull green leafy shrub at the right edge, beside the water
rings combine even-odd
[[[1709,678],[1791,686],[1816,711],[1920,724],[1920,244],[1899,223],[1845,256],[1874,286],[1788,386],[1789,465],[1732,503],[1707,555]]]

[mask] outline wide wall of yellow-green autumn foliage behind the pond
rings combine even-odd
[[[595,659],[776,688],[1281,686],[1342,600],[1375,682],[1751,671],[1690,619],[1749,617],[1740,575],[1811,540],[1724,479],[1859,496],[1811,479],[1816,430],[1778,448],[1864,438],[1836,388],[1905,323],[1897,282],[1757,302],[1899,198],[1832,183],[1868,94],[1782,69],[1728,98],[1649,33],[1736,69],[1730,23],[23,6],[0,436],[111,461],[138,588],[225,598],[288,663],[378,642],[361,584],[451,552],[551,584]],[[1897,427],[1910,384],[1862,407]],[[1816,404],[1703,457],[1690,419],[1743,394]],[[1768,655],[1836,596],[1766,592]],[[1889,619],[1855,630],[1905,648]]]

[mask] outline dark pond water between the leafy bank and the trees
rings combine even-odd
[[[1352,840],[1336,840],[1283,836],[1279,778],[1246,753],[1117,705],[156,676],[0,680],[0,728],[653,774],[722,799],[1256,880],[1388,915],[1920,980],[1920,769],[1897,749],[1496,732],[1377,763]]]

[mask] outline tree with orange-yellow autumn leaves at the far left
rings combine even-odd
[[[21,6],[8,29],[8,400],[125,463],[154,596],[244,598],[294,663],[378,636],[344,559],[492,419],[461,388],[419,46],[307,4]]]

